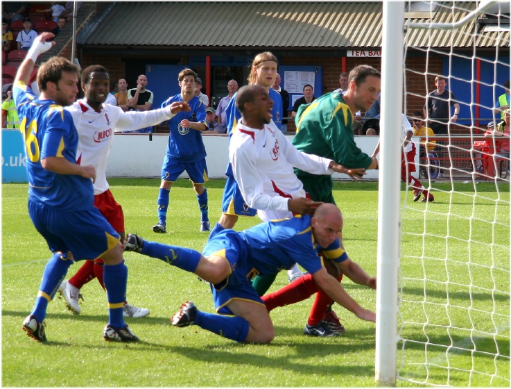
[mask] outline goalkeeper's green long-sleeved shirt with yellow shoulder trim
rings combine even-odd
[[[341,93],[324,94],[298,109],[293,144],[304,153],[335,160],[345,167],[367,169],[372,158],[357,147],[352,120],[352,111]],[[297,176],[310,175],[298,169],[295,172]]]

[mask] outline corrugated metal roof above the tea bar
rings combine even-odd
[[[440,8],[434,23],[458,21],[475,3]],[[408,19],[431,22],[431,19]],[[451,32],[408,28],[408,47],[474,47],[476,22]],[[381,47],[380,2],[119,2],[89,30],[86,45],[151,47]],[[478,47],[509,47],[508,32],[478,35]]]

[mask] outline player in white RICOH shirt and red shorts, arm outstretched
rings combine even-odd
[[[110,192],[106,179],[108,155],[112,147],[114,132],[135,131],[142,127],[154,126],[171,119],[181,110],[189,110],[186,103],[175,103],[166,108],[150,111],[124,112],[121,108],[105,103],[110,90],[110,76],[107,69],[100,65],[87,67],[82,74],[82,89],[85,99],[76,101],[66,109],[75,118],[78,138],[80,140],[77,158],[80,165],[94,165],[96,181],[94,182],[94,206],[106,217],[124,242],[124,215],[122,208]],[[92,258],[94,259],[94,258]],[[85,283],[98,278],[103,285],[103,260],[86,260],[80,270],[63,281],[59,292],[67,307],[74,314],[80,314],[78,297],[80,288]],[[149,315],[146,308],[132,306],[125,301],[123,315],[126,317],[145,317]]]

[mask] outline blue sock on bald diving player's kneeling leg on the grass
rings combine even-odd
[[[248,336],[248,322],[239,316],[223,316],[197,311],[193,324],[236,342],[244,342]]]

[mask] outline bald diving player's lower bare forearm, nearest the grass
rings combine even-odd
[[[313,274],[313,279],[331,299],[348,311],[354,313],[356,317],[369,322],[376,322],[376,315],[372,311],[358,305],[358,303],[347,294],[343,286],[340,285],[333,276],[328,274],[324,267]]]

